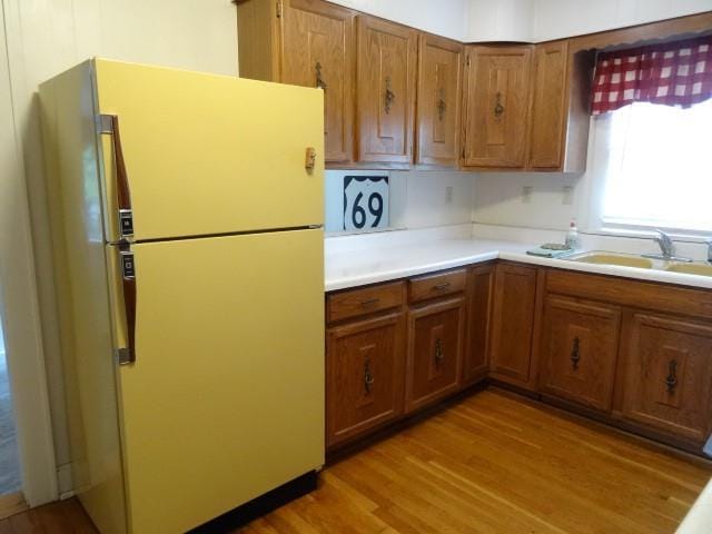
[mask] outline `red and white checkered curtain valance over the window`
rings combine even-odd
[[[632,102],[689,108],[712,98],[712,36],[602,52],[591,115]]]

